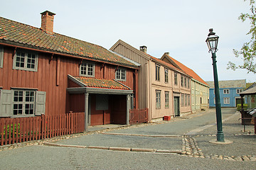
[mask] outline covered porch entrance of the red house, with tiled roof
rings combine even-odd
[[[129,125],[133,91],[128,86],[115,80],[68,75],[67,91],[69,110],[85,112],[85,131],[89,125]]]

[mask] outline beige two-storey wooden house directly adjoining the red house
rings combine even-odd
[[[146,46],[138,50],[118,40],[110,50],[141,64],[139,108],[149,108],[149,122],[191,113],[191,77],[186,72],[146,54]]]

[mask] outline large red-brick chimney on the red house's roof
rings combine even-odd
[[[48,34],[53,35],[53,19],[56,15],[50,11],[44,11],[41,14],[41,29]]]

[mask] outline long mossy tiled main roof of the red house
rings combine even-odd
[[[66,55],[83,57],[91,60],[100,60],[121,64],[128,67],[137,67],[132,62],[99,45],[85,42],[65,35],[45,33],[40,28],[11,21],[0,17],[0,42],[11,43],[17,46],[36,48],[48,52],[58,52]]]

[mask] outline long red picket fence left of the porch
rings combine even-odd
[[[28,118],[0,118],[0,144],[68,135],[85,130],[85,113],[42,115]]]

